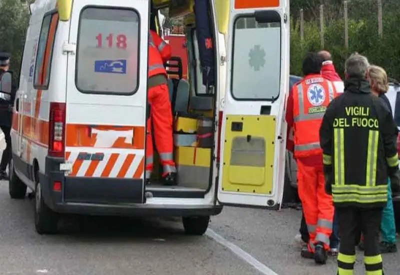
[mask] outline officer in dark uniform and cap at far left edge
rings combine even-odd
[[[9,58],[10,54],[8,52],[0,52],[0,128],[4,133],[6,143],[6,147],[1,156],[0,179],[8,178],[5,169],[11,158],[10,130],[15,88],[12,85],[12,74],[8,70]]]

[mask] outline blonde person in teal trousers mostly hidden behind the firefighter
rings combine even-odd
[[[368,70],[368,80],[371,86],[371,92],[380,97],[391,113],[391,106],[385,93],[389,89],[386,71],[376,65],[371,65]],[[382,241],[379,243],[381,253],[394,253],[397,252],[396,246],[396,225],[394,221],[393,202],[391,198],[390,178],[387,179],[387,203],[383,208],[382,220],[380,222],[380,232],[382,234]],[[358,244],[362,250],[363,241]]]

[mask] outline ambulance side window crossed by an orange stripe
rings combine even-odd
[[[36,61],[34,67],[35,88],[47,89],[50,80],[50,67],[57,28],[58,13],[47,14],[41,24],[39,41],[37,44]],[[30,69],[30,67],[29,67]]]

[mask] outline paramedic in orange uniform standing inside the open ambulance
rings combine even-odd
[[[167,73],[164,63],[171,56],[171,46],[150,29],[148,36],[148,79],[147,100],[150,104],[150,117],[147,119],[146,134],[146,167],[145,177],[148,181],[153,168],[153,144],[151,133],[154,134],[160,162],[162,177],[167,185],[176,184],[175,163],[173,162],[172,141],[172,111],[169,100]],[[153,126],[153,130],[151,130]]]

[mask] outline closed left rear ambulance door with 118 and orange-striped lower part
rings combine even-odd
[[[66,201],[143,202],[148,10],[148,0],[73,1]]]

